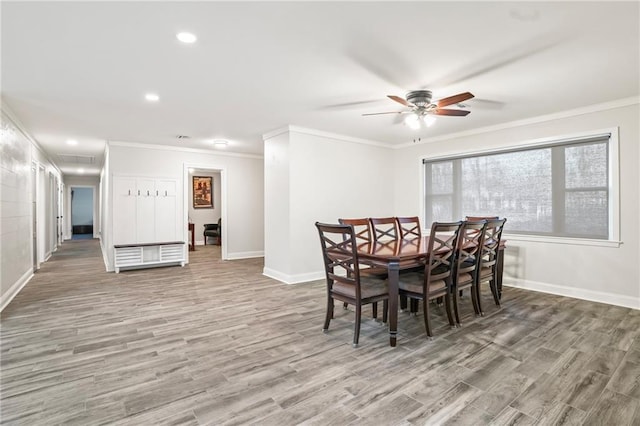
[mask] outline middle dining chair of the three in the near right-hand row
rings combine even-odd
[[[462,223],[458,233],[459,240],[456,247],[451,291],[453,295],[453,312],[456,316],[457,324],[460,324],[459,296],[462,296],[462,291],[465,289],[469,289],[471,293],[473,312],[476,315],[480,315],[476,277],[480,267],[480,254],[482,253],[486,225],[486,220],[465,221]]]

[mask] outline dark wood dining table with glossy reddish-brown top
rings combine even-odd
[[[396,346],[398,338],[398,282],[400,271],[424,265],[429,257],[429,236],[412,239],[395,239],[358,245],[358,257],[362,263],[387,268],[389,288],[389,344]],[[498,294],[502,293],[502,265],[504,243],[501,242],[498,258]]]

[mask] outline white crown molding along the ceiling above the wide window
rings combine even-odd
[[[525,118],[525,119],[522,119],[522,120],[510,121],[510,122],[507,122],[507,123],[501,123],[501,124],[497,124],[497,125],[494,125],[494,126],[479,127],[479,128],[472,129],[472,130],[466,130],[466,131],[457,132],[457,133],[449,133],[449,134],[446,134],[446,135],[435,136],[435,137],[432,137],[432,138],[426,138],[426,139],[422,138],[422,140],[420,142],[417,142],[417,143],[403,143],[401,145],[395,145],[393,147],[393,149],[403,149],[403,148],[408,148],[408,147],[416,146],[416,145],[420,145],[420,144],[427,144],[427,143],[432,143],[432,142],[440,142],[440,141],[456,139],[456,138],[461,138],[461,137],[466,137],[466,136],[474,136],[474,135],[478,135],[478,134],[481,134],[481,133],[496,132],[496,131],[499,131],[499,130],[511,129],[511,128],[514,128],[514,127],[526,126],[526,125],[529,125],[529,124],[544,123],[546,121],[553,121],[553,120],[559,120],[559,119],[562,119],[562,118],[576,117],[578,115],[590,114],[590,113],[593,113],[593,112],[607,111],[607,110],[610,110],[610,109],[622,108],[622,107],[631,106],[631,105],[637,105],[637,104],[640,104],[640,96],[632,96],[632,97],[629,97],[629,98],[618,99],[618,100],[615,100],[615,101],[604,102],[604,103],[600,103],[600,104],[589,105],[589,106],[586,106],[586,107],[580,107],[580,108],[575,108],[575,109],[571,109],[571,110],[556,112],[556,113],[553,113],[553,114],[546,114],[546,115],[540,115],[538,117],[531,117],[531,118]]]

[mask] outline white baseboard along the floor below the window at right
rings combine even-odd
[[[590,302],[606,303],[609,305],[640,310],[640,298],[624,296],[621,294],[605,293],[602,291],[587,290],[584,288],[567,287],[557,284],[507,277],[504,278],[503,285],[505,287],[516,287],[524,290],[539,291],[541,293],[555,294],[558,296],[572,297],[574,299],[582,299]]]

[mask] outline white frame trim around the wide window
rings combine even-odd
[[[600,130],[591,130],[580,133],[566,134],[560,136],[551,136],[540,139],[532,139],[521,142],[511,143],[509,145],[498,148],[472,150],[472,151],[450,151],[434,156],[425,155],[419,159],[420,167],[420,217],[425,216],[425,197],[427,188],[425,185],[425,161],[439,161],[452,159],[456,157],[481,156],[488,154],[500,154],[513,151],[514,149],[541,148],[549,144],[561,144],[563,142],[579,141],[580,139],[589,139],[599,136],[609,136],[609,236],[607,239],[590,239],[590,238],[571,238],[558,237],[548,235],[530,235],[530,234],[513,234],[509,233],[508,227],[504,234],[508,235],[510,241],[530,241],[554,244],[570,244],[570,245],[586,245],[601,247],[619,247],[620,241],[620,154],[619,154],[619,128],[612,127]],[[507,218],[508,219],[508,218]],[[427,224],[425,224],[426,226]],[[506,238],[506,237],[505,237]]]

